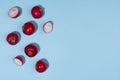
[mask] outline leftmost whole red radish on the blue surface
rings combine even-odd
[[[16,45],[19,42],[19,35],[12,32],[7,35],[7,42],[10,45]]]

